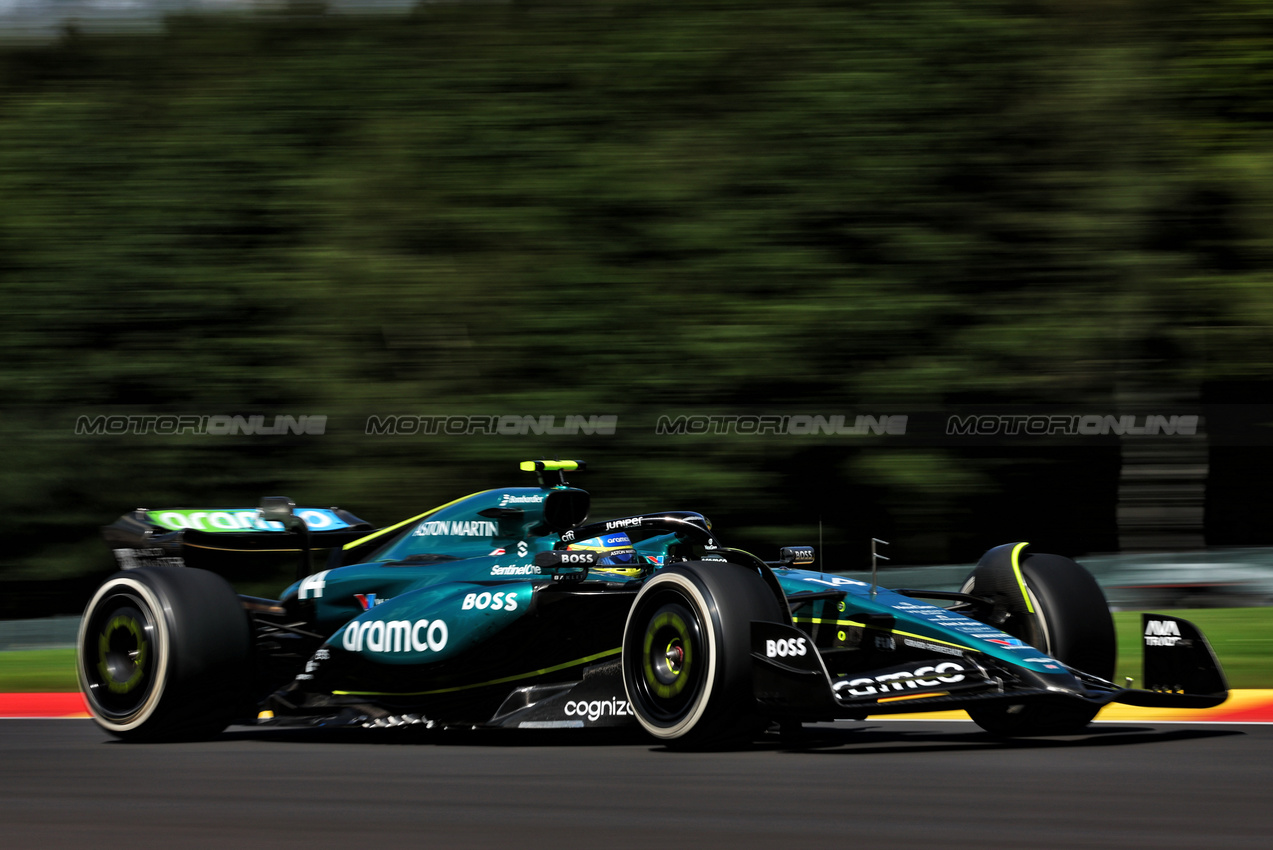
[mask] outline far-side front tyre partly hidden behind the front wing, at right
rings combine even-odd
[[[983,560],[962,593],[992,598],[993,625],[1013,638],[1085,673],[1113,678],[1114,618],[1092,574],[1059,555],[1023,555],[1020,564],[1034,613],[1007,557]],[[1015,737],[1081,732],[1097,711],[1099,706],[1085,704],[1027,702],[974,707],[967,714],[987,732]]]

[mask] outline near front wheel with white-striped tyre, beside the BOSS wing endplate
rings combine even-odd
[[[624,687],[636,720],[680,748],[754,737],[765,723],[751,692],[751,621],[782,617],[749,568],[696,561],[659,570],[624,626]]]

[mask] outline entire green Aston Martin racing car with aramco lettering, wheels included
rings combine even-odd
[[[125,569],[79,634],[94,719],[136,741],[232,723],[630,724],[701,747],[939,709],[997,734],[1059,734],[1109,702],[1227,697],[1207,640],[1171,616],[1144,616],[1144,687],[1114,685],[1100,587],[1023,542],[987,552],[957,593],[889,590],[806,569],[811,547],[774,561],[731,548],[689,510],[588,523],[588,492],[564,477],[582,462],[522,467],[537,486],[384,528],[281,496],[121,517],[103,531]],[[280,552],[297,580],[279,599],[239,596],[218,574]]]

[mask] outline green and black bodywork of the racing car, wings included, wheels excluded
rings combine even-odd
[[[149,557],[171,566],[195,552],[207,565],[210,552],[233,559],[262,550],[302,552],[308,562],[308,550],[330,551],[326,569],[280,599],[243,598],[262,721],[634,723],[620,664],[634,599],[668,566],[719,561],[760,575],[779,602],[778,621],[750,624],[752,691],[760,714],[774,720],[1030,701],[1200,706],[1227,695],[1200,635],[1180,648],[1190,653],[1185,662],[1167,667],[1178,678],[1203,671],[1204,693],[1190,681],[1151,682],[1157,692],[1119,688],[1015,636],[1032,632],[1013,627],[1001,597],[1030,607],[1018,562],[1025,545],[983,559],[1003,568],[995,573],[1009,576],[1003,587],[894,592],[726,548],[691,512],[584,526],[588,501],[541,472],[537,487],[476,492],[378,531],[340,509],[295,509],[321,526],[299,534],[286,523],[253,524],[247,509],[137,510],[106,531],[129,552],[121,564]],[[572,568],[546,555],[619,531],[631,534],[642,569]],[[1206,678],[1207,669],[1216,676]]]

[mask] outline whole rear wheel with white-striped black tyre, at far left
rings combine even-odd
[[[84,611],[76,669],[89,713],[111,734],[207,738],[251,709],[251,627],[219,575],[116,573]]]

